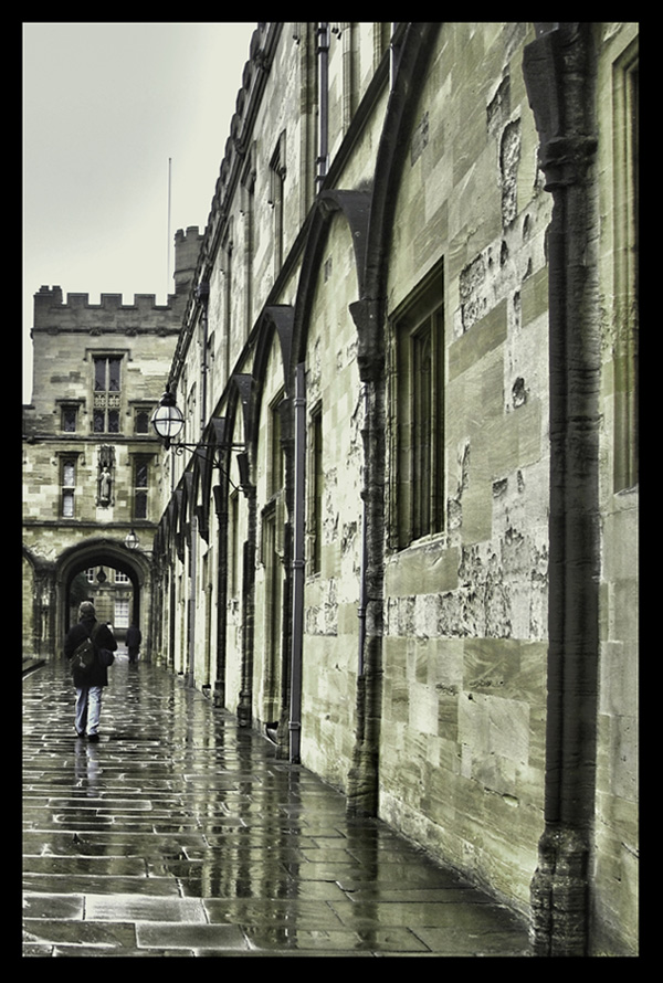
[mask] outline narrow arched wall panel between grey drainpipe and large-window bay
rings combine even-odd
[[[348,311],[356,296],[351,239],[345,219],[337,215],[319,271],[306,352],[308,426],[319,408],[324,474],[319,571],[311,569],[311,540],[307,550],[302,759],[341,788],[355,733],[361,568],[362,403],[356,329]],[[309,499],[308,531],[312,526]]]

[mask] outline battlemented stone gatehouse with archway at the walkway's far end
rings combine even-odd
[[[167,305],[149,294],[133,304],[103,294],[91,304],[86,294],[64,297],[59,286],[35,294],[33,391],[23,408],[23,653],[30,657],[60,655],[75,580],[93,569],[88,594],[96,598],[105,584],[104,617],[114,620],[118,594],[120,628],[151,619],[161,446],[150,419],[200,239],[198,229],[178,235],[176,292]]]

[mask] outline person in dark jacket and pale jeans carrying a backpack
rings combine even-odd
[[[102,691],[108,685],[108,670],[99,662],[99,649],[117,651],[117,642],[113,632],[104,624],[97,624],[94,604],[83,601],[78,607],[80,622],[70,628],[64,640],[64,654],[71,659],[77,646],[83,640],[93,636],[94,632],[94,663],[85,670],[74,669],[73,678],[76,687],[76,718],[75,727],[77,737],[85,737],[90,741],[98,741],[98,726],[102,712]]]

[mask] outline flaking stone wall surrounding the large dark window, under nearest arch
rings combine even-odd
[[[549,202],[523,24],[445,24],[413,117],[396,309],[443,258],[444,531],[386,569],[382,814],[523,909],[540,834]],[[391,467],[394,462],[391,462]]]

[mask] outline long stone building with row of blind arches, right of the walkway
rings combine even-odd
[[[638,947],[636,107],[632,23],[259,24],[160,380],[152,657],[541,955]]]

